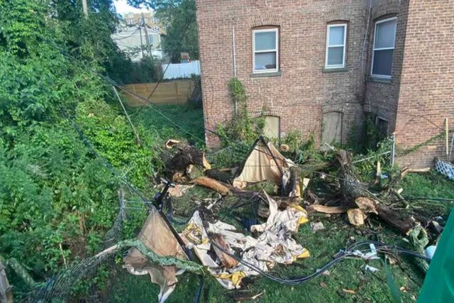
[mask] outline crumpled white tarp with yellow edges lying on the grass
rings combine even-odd
[[[292,234],[297,232],[299,225],[308,221],[306,211],[301,206],[289,206],[287,209],[279,211],[277,203],[266,193],[264,194],[270,203],[270,216],[265,224],[251,226],[251,231],[260,232],[258,238],[238,233],[234,226],[221,221],[216,221],[214,224],[209,223],[208,230],[206,230],[199,211],[194,213],[182,233],[182,238],[187,245],[194,246],[194,251],[201,263],[228,290],[240,288],[240,282],[244,277],[259,275],[259,272],[242,263],[227,268],[223,266],[220,258],[216,258],[216,260],[211,258],[208,253],[211,243],[207,232],[220,235],[230,253],[233,253],[232,248],[240,249],[242,251],[240,258],[256,268],[260,268],[263,272],[273,268],[275,263],[289,264],[297,258],[309,257],[309,251],[292,238]]]

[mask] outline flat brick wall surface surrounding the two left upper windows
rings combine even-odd
[[[234,104],[228,81],[233,77],[232,27],[236,34],[237,77],[245,85],[248,109],[263,106],[281,117],[282,135],[311,131],[321,136],[321,116],[343,113],[343,141],[362,121],[363,82],[360,58],[367,1],[196,0],[205,127],[231,119]],[[348,21],[347,70],[324,72],[326,25]],[[252,28],[279,26],[278,77],[251,77]],[[364,57],[364,60],[366,58]],[[206,133],[209,147],[218,144]]]

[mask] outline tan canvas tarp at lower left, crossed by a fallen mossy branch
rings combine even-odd
[[[172,234],[169,226],[157,211],[151,211],[143,224],[138,239],[147,248],[160,256],[172,256],[181,260],[188,260],[182,246]],[[132,248],[123,258],[123,267],[133,275],[150,275],[151,282],[160,285],[159,302],[164,302],[175,289],[177,275],[182,271],[175,266],[160,266],[150,263],[140,251]]]

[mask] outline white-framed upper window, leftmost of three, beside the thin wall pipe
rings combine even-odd
[[[253,72],[279,69],[279,31],[277,28],[253,31]]]

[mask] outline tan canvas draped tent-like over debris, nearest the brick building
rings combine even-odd
[[[233,186],[244,188],[248,183],[262,181],[281,184],[284,169],[292,165],[292,161],[284,158],[271,142],[265,143],[259,138],[246,158],[240,175],[233,180]]]

